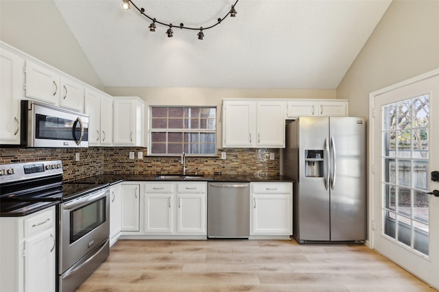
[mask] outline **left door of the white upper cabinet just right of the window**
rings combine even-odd
[[[254,102],[224,101],[223,147],[245,148],[255,144]]]

